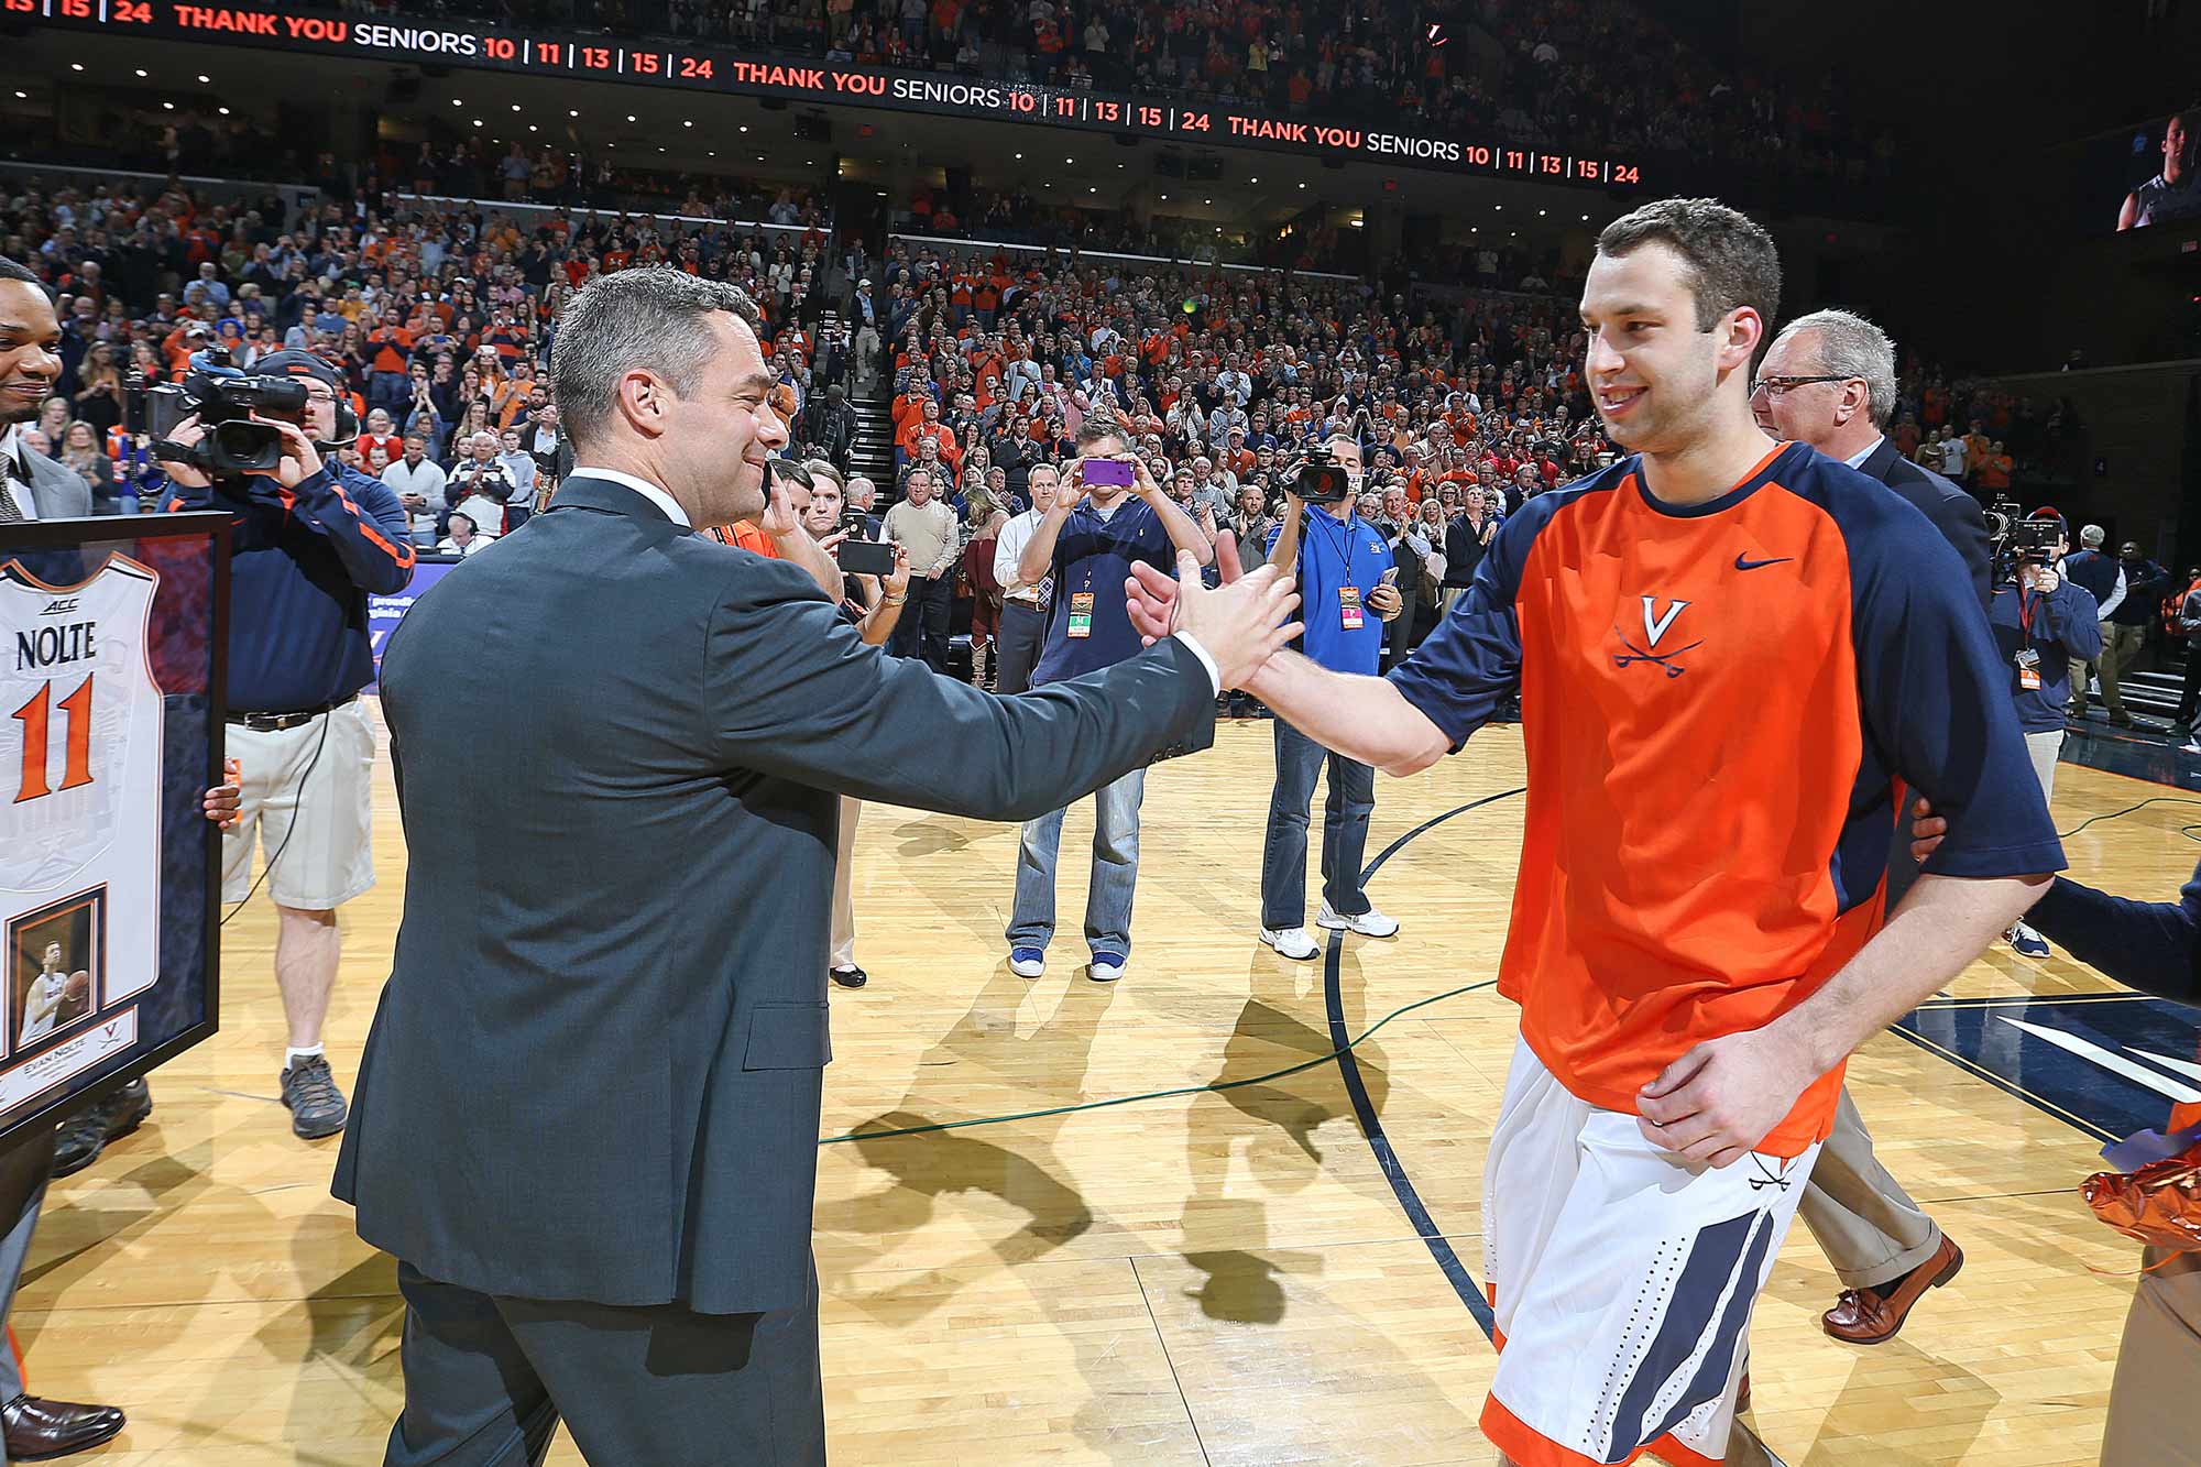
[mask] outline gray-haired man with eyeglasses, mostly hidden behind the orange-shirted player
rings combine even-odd
[[[1994,586],[1988,520],[1979,500],[1932,469],[1906,460],[1886,438],[1895,414],[1895,344],[1884,330],[1849,311],[1796,317],[1759,363],[1750,408],[1759,427],[1844,460],[1932,520],[1963,557],[1985,612]],[[1919,870],[1910,855],[1908,824],[1906,813],[1888,852],[1884,910],[1891,912]],[[1849,1344],[1893,1339],[1910,1306],[1963,1267],[1963,1251],[1880,1165],[1849,1086],[1842,1086],[1833,1130],[1805,1185],[1798,1214],[1842,1280],[1842,1295],[1820,1317],[1820,1326]]]

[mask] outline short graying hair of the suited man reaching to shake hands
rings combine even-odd
[[[550,392],[574,447],[610,427],[627,372],[654,372],[680,396],[693,394],[718,350],[713,311],[731,311],[751,330],[762,319],[740,286],[671,264],[614,271],[581,286],[566,302],[550,348]]]

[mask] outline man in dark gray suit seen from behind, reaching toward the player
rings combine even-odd
[[[1296,634],[1294,599],[1195,577],[1173,637],[993,698],[865,645],[797,566],[691,533],[788,524],[746,295],[594,280],[552,374],[572,476],[420,597],[381,670],[416,879],[335,1192],[401,1260],[385,1463],[539,1463],[561,1416],[592,1463],[823,1463],[839,795],[1059,808],[1211,742],[1217,687]],[[519,756],[486,804],[451,756],[473,745]],[[451,872],[484,885],[453,896]]]

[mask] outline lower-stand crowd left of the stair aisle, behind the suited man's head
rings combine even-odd
[[[817,388],[850,372],[845,330],[823,326],[830,236],[766,236],[588,209],[517,220],[478,207],[328,200],[216,203],[183,187],[46,189],[0,203],[0,253],[42,271],[59,295],[62,381],[33,447],[79,467],[101,509],[136,509],[154,474],[150,441],[130,432],[128,381],[178,381],[194,352],[222,348],[251,370],[284,348],[343,372],[361,419],[346,449],[359,467],[456,489],[504,489],[526,513],[570,465],[544,372],[566,297],[601,271],[667,262],[742,284],[766,313],[784,410],[803,419]],[[817,394],[823,401],[823,392]],[[814,421],[817,414],[812,414]],[[495,465],[495,467],[491,467]],[[502,482],[500,482],[502,480]],[[449,511],[423,496],[416,537],[449,535]]]

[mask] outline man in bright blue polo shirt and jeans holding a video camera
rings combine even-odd
[[[1360,493],[1360,443],[1336,434],[1321,449],[1345,469],[1351,485],[1343,500],[1305,502],[1283,496],[1283,515],[1268,533],[1268,564],[1299,577],[1299,617],[1307,623],[1299,652],[1332,672],[1376,676],[1382,626],[1404,599],[1384,579],[1391,544],[1354,513]],[[1285,958],[1312,958],[1307,936],[1307,804],[1314,775],[1329,758],[1329,797],[1323,804],[1323,912],[1314,921],[1332,932],[1393,936],[1398,923],[1369,905],[1360,890],[1360,857],[1376,811],[1376,771],[1360,760],[1329,753],[1283,718],[1277,725],[1277,789],[1268,797],[1268,841],[1261,846],[1261,941]]]

